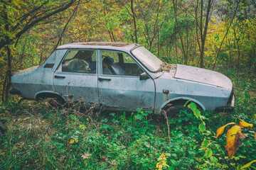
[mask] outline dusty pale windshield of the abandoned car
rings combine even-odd
[[[150,72],[159,72],[161,71],[162,61],[153,55],[149,50],[146,50],[145,47],[137,47],[132,50],[132,54],[142,62],[142,64],[149,69]]]

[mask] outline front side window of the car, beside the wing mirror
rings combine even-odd
[[[102,73],[139,77],[143,71],[126,53],[102,51]]]

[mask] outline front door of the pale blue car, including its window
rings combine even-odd
[[[100,55],[101,70],[98,75],[100,104],[124,111],[136,108],[154,110],[154,80],[139,79],[139,75],[144,71],[132,57],[124,52],[110,50],[102,50]]]

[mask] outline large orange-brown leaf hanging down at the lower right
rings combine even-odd
[[[240,145],[242,145],[242,140],[244,139],[245,135],[242,133],[241,126],[234,125],[230,130],[228,130],[227,145],[225,145],[225,149],[228,151],[230,159],[234,156]]]

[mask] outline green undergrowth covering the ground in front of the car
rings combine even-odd
[[[246,139],[232,159],[225,135],[216,139],[215,132],[238,118],[256,124],[254,86],[255,80],[238,81],[233,113],[202,112],[203,132],[201,120],[189,112],[169,118],[168,131],[164,118],[143,109],[107,113],[34,101],[3,103],[0,116],[9,130],[0,136],[0,169],[237,169],[256,159],[252,128],[243,130]],[[210,144],[203,147],[206,140]]]

